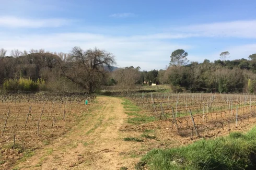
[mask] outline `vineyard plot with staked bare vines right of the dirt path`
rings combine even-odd
[[[182,137],[215,136],[221,129],[252,124],[256,117],[255,96],[248,94],[131,93],[129,99]]]

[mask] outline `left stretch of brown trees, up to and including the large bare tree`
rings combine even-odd
[[[44,88],[50,91],[83,89],[92,93],[107,82],[109,71],[106,68],[115,65],[114,56],[98,48],[83,50],[74,47],[70,53],[52,53],[43,49],[13,50],[10,54],[6,56],[6,50],[0,50],[0,84],[2,90],[9,91],[17,90],[11,88],[15,87],[11,83],[19,83],[11,80],[27,79],[25,82],[45,82]],[[34,86],[35,83],[31,84]],[[26,89],[34,89],[32,85]]]

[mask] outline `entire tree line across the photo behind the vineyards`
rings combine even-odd
[[[72,48],[69,53],[52,53],[43,49],[19,51],[10,56],[0,50],[0,85],[2,90],[84,90],[89,93],[102,86],[118,86],[131,90],[136,84],[152,82],[170,84],[174,92],[254,92],[256,85],[256,54],[248,59],[228,60],[229,52],[210,62],[189,62],[189,54],[182,49],[173,51],[167,69],[141,70],[125,67],[112,70],[115,57],[98,48]],[[21,86],[21,85],[22,86]],[[145,84],[144,84],[145,85]],[[33,86],[33,87],[32,87]],[[17,89],[20,87],[20,89]]]

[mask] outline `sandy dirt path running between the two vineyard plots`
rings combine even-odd
[[[63,137],[36,152],[20,169],[134,169],[139,158],[125,156],[138,143],[125,142],[122,100],[101,96],[91,113]]]

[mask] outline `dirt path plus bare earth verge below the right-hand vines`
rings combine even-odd
[[[154,148],[174,148],[201,139],[191,138],[190,129],[178,133],[169,119],[157,120],[125,98],[99,96],[90,107],[76,126],[18,162],[14,169],[135,169],[141,157]],[[208,116],[209,121],[222,117]],[[200,123],[200,117],[194,117]],[[255,123],[253,116],[243,119],[238,127],[234,123],[224,128],[213,124],[213,130],[203,138],[247,131]]]

